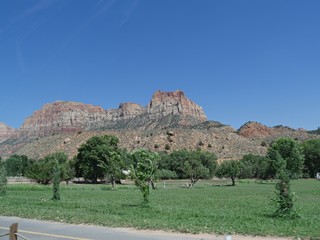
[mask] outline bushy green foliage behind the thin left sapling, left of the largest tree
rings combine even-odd
[[[26,170],[26,177],[36,180],[40,184],[49,184],[53,179],[53,168],[58,161],[60,166],[61,180],[72,178],[72,164],[67,162],[68,156],[63,152],[57,152],[45,156],[29,165]]]

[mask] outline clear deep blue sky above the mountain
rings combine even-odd
[[[183,90],[235,128],[320,126],[318,0],[1,0],[0,122]]]

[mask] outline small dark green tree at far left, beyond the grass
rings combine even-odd
[[[12,155],[5,161],[8,176],[24,176],[30,161],[25,155]]]

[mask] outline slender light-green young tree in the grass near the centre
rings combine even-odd
[[[130,167],[130,176],[143,195],[143,205],[148,205],[150,184],[155,179],[159,155],[146,149],[138,149],[132,153],[135,163]]]

